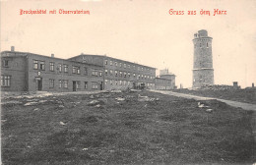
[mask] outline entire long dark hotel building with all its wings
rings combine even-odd
[[[1,91],[172,89],[175,76],[156,78],[156,68],[102,55],[60,59],[14,50],[1,52]]]

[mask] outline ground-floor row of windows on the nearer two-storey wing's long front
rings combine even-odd
[[[58,81],[58,87],[59,88],[68,88],[68,83],[69,83],[69,81],[59,80]],[[55,87],[55,80],[50,79],[49,80],[49,88],[54,88],[54,87]],[[80,81],[76,81],[76,88],[77,89],[81,88],[81,82]],[[88,89],[88,82],[84,82],[84,88]],[[92,82],[92,88],[97,89],[98,84],[96,82]]]

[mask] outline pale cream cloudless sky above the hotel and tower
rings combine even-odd
[[[46,15],[20,15],[47,10]],[[50,15],[50,10],[89,10],[90,15]],[[184,15],[169,15],[169,10]],[[208,10],[211,16],[201,16]],[[226,15],[213,16],[214,9]],[[187,11],[196,11],[195,16]],[[193,35],[213,37],[215,83],[256,83],[255,0],[1,0],[1,51],[70,58],[100,54],[168,68],[176,85],[192,86]],[[159,72],[157,72],[159,73]]]

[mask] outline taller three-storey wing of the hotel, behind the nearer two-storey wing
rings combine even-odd
[[[145,86],[155,88],[156,68],[101,55],[79,55],[69,60],[103,67],[104,89]]]

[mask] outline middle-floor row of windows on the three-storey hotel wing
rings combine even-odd
[[[119,75],[118,75],[119,74]],[[108,76],[108,70],[105,70],[105,76]],[[113,76],[113,70],[109,70],[109,76]],[[115,77],[124,77],[124,78],[130,78],[131,77],[131,73],[129,73],[129,72],[122,72],[122,71],[114,71],[114,76]],[[136,79],[136,74],[133,74],[133,77],[134,77],[134,79]],[[152,77],[152,76],[147,76],[147,75],[140,75],[140,74],[138,74],[137,75],[137,80],[153,80],[154,79],[154,77]]]

